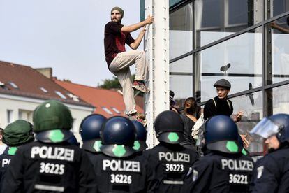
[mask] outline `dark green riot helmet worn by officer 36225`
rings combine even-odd
[[[41,103],[33,114],[36,139],[44,143],[60,143],[71,138],[73,124],[71,110],[60,101],[48,100]]]

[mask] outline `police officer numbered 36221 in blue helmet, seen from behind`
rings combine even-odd
[[[188,173],[184,192],[248,192],[253,160],[242,154],[235,122],[217,115],[205,124],[207,155]]]

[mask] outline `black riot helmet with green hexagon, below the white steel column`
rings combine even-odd
[[[170,144],[180,144],[185,141],[184,122],[171,110],[165,110],[156,117],[154,130],[158,141]]]

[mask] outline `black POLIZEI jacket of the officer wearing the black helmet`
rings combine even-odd
[[[180,192],[184,177],[198,155],[181,145],[160,143],[144,151],[149,168],[154,171],[158,186],[156,192]]]

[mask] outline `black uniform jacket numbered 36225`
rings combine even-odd
[[[35,141],[11,159],[2,192],[96,192],[92,167],[75,145]]]

